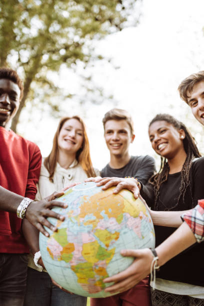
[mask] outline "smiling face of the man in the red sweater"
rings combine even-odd
[[[0,126],[15,115],[20,102],[20,88],[9,79],[0,79]]]

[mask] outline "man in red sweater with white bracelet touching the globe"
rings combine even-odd
[[[40,172],[41,154],[36,144],[15,134],[8,128],[10,119],[19,107],[22,94],[23,84],[17,73],[12,69],[0,68],[1,306],[23,305],[27,271],[26,253],[29,252],[29,249],[21,232],[21,219],[27,214],[26,217],[31,223],[45,234],[47,233],[42,229],[41,224],[47,224],[48,227],[55,230],[50,223],[47,223],[45,216],[52,215],[62,219],[47,209],[55,201],[50,204],[47,200],[35,202],[36,208],[34,208],[32,201],[36,193],[35,185]],[[14,201],[18,203],[18,206]],[[62,203],[59,204],[59,206],[62,205]],[[34,214],[36,215],[34,216]],[[30,225],[27,220],[24,221]]]

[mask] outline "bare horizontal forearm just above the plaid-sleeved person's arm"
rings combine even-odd
[[[183,211],[155,211],[150,210],[151,218],[154,225],[178,227],[182,224],[181,214],[189,210]]]

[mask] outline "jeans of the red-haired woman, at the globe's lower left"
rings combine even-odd
[[[64,292],[48,273],[28,267],[24,306],[86,306],[86,297]]]

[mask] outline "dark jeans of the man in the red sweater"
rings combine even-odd
[[[27,254],[0,253],[0,306],[22,306]]]

